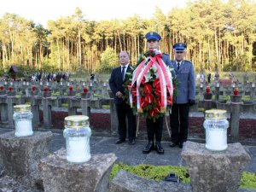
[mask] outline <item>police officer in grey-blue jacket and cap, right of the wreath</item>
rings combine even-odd
[[[190,61],[183,60],[186,44],[173,45],[175,61],[172,61],[177,78],[177,96],[174,98],[172,112],[170,113],[172,142],[170,147],[179,146],[188,138],[189,106],[195,104],[195,72]]]

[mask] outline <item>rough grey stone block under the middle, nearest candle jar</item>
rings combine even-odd
[[[88,162],[73,164],[61,148],[39,163],[45,192],[106,192],[115,154],[92,155]]]

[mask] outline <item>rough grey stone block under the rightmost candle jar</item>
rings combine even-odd
[[[241,143],[231,143],[224,151],[210,151],[205,144],[187,142],[182,157],[189,168],[194,192],[235,192],[241,172],[251,160]]]

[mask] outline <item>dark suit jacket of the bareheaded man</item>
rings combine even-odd
[[[129,72],[130,70],[131,70],[131,67],[129,65],[126,70],[126,73]],[[125,90],[125,87],[123,86],[121,67],[116,67],[112,70],[112,73],[108,82],[109,82],[110,89],[113,92],[114,103],[121,104],[122,102],[125,102],[123,99],[120,99],[117,96],[115,96],[115,94],[118,91],[124,94],[124,90]]]

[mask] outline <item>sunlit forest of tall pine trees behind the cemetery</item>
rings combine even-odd
[[[19,15],[0,18],[0,75],[11,65],[31,72],[109,73],[119,66],[120,50],[131,63],[147,49],[144,35],[159,32],[160,49],[173,59],[172,45],[188,45],[186,59],[197,72],[256,71],[255,1],[199,0],[151,19],[86,20],[81,9],[49,20],[48,28]]]

